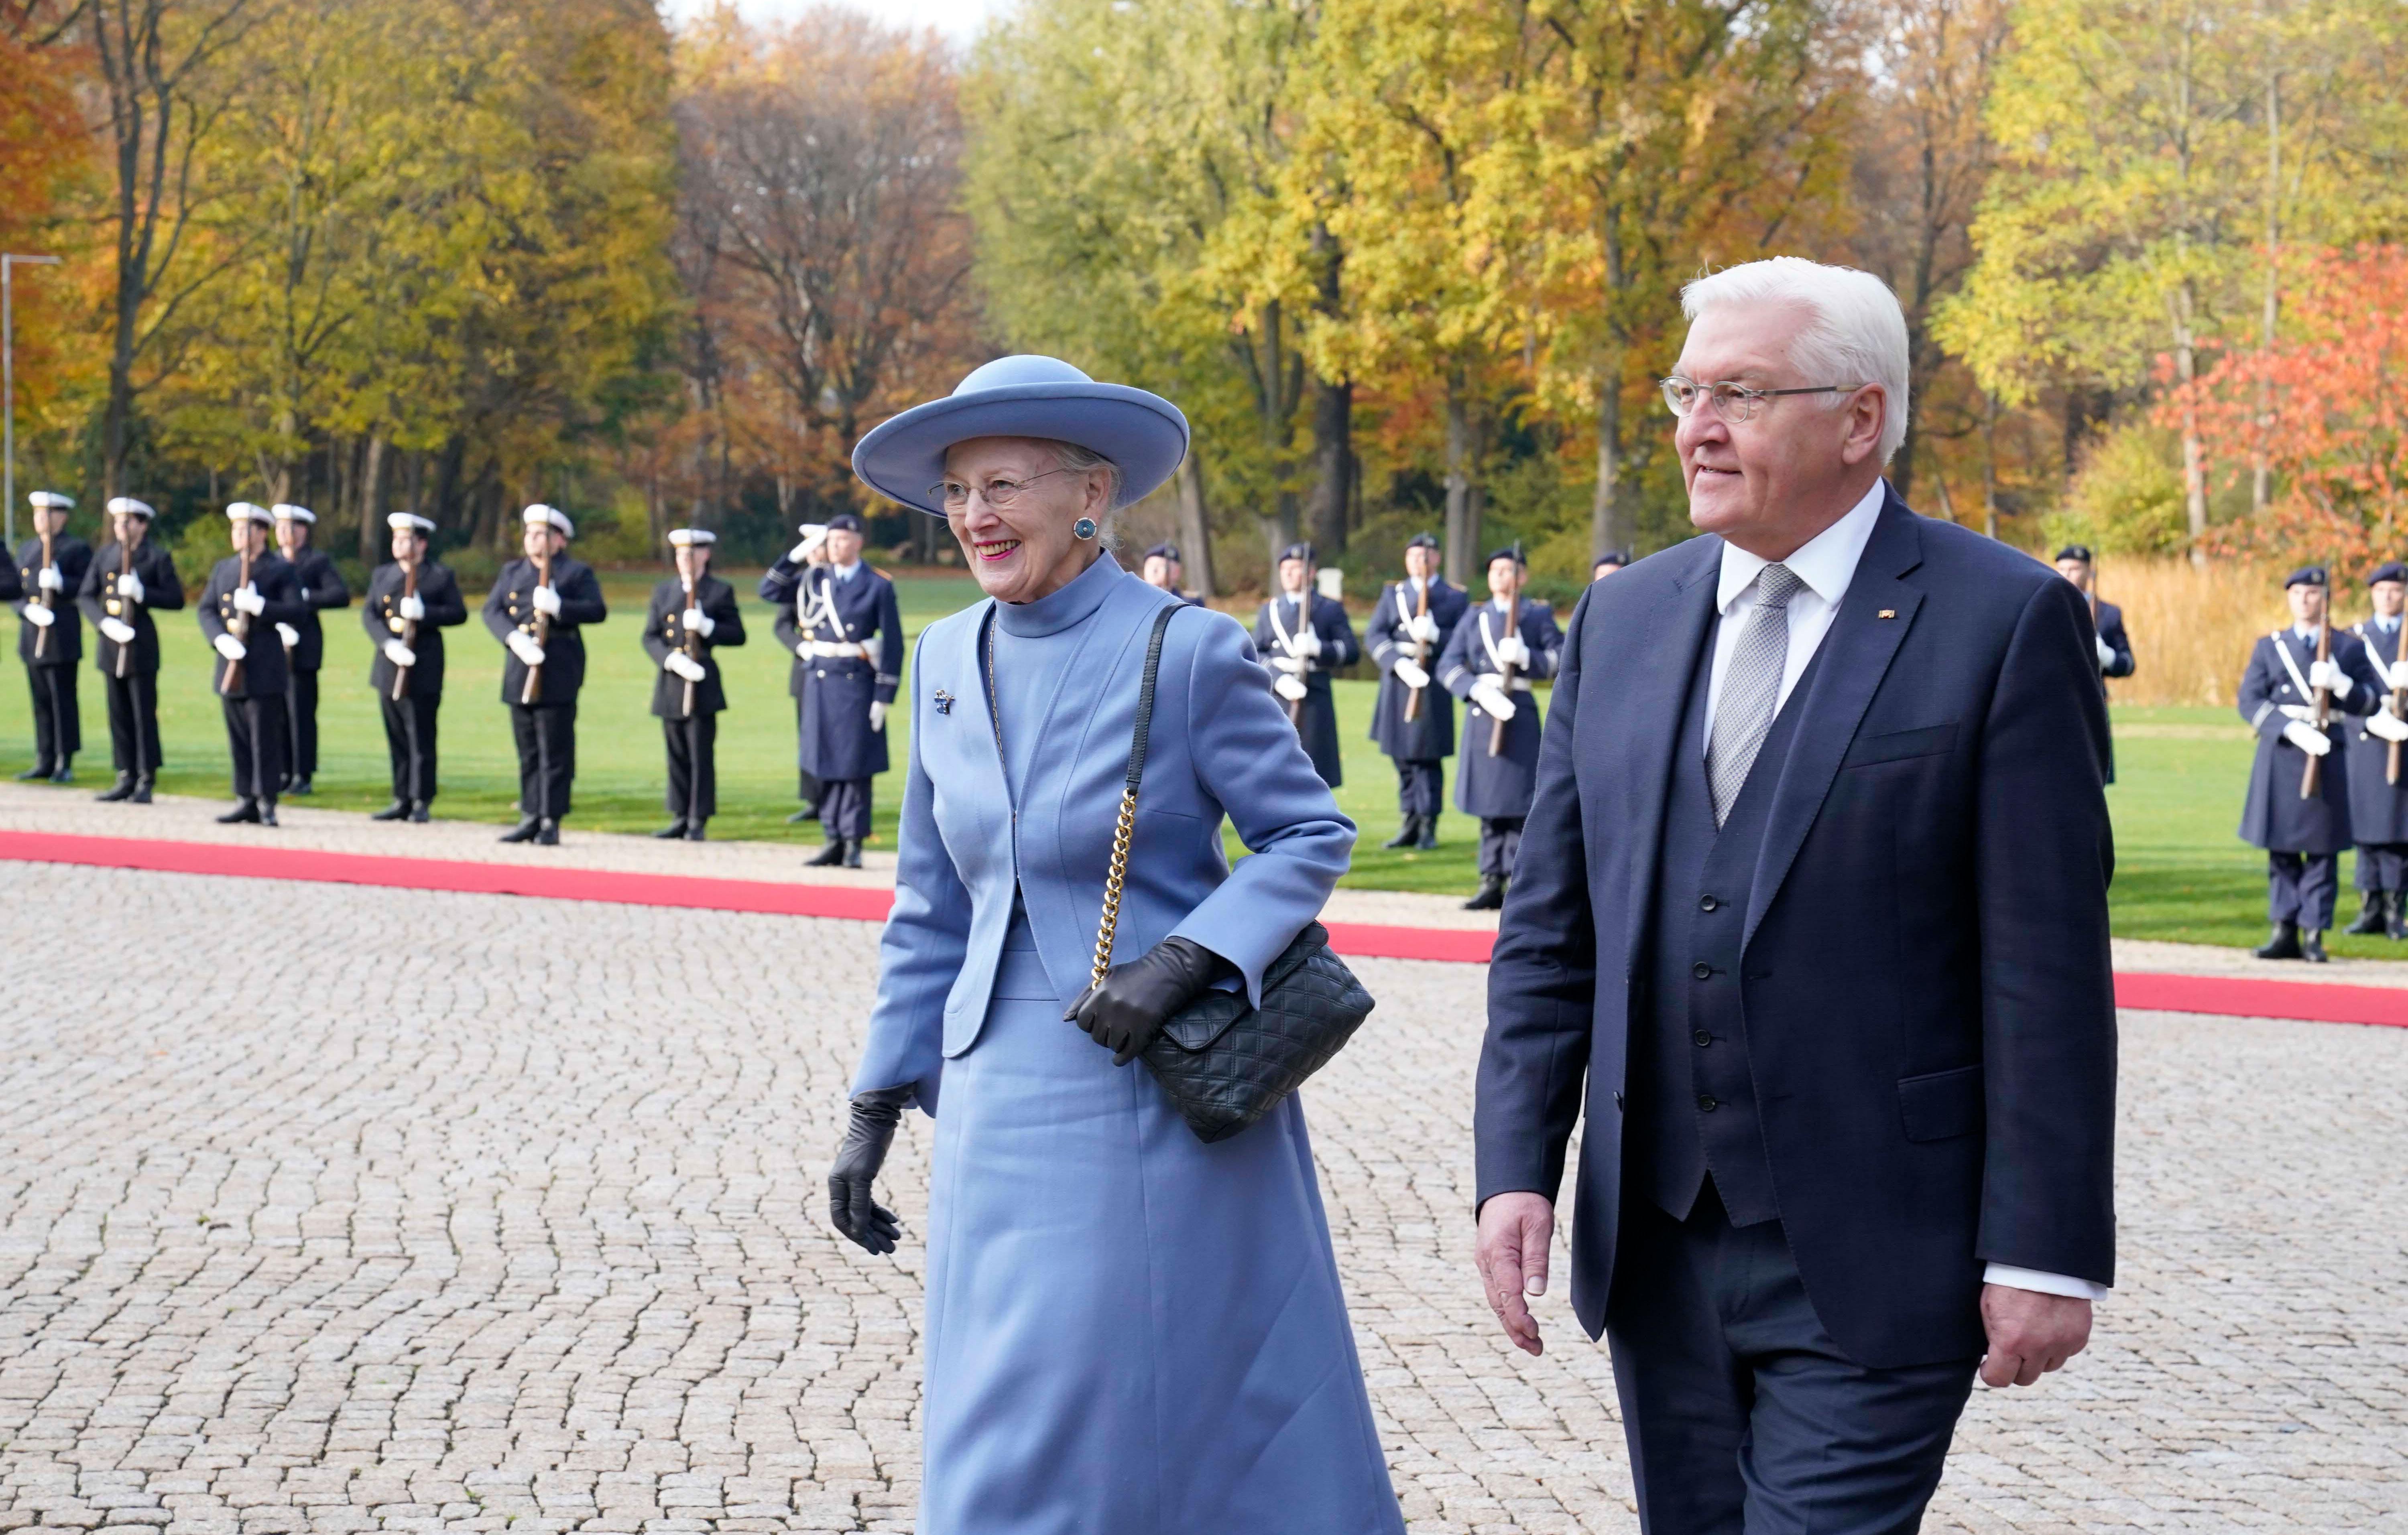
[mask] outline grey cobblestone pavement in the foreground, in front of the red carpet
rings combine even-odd
[[[0,864],[0,1530],[905,1530],[903,1251],[819,1215],[867,924]],[[1416,1535],[1635,1530],[1469,1278],[1483,972],[1308,1090]],[[2408,1528],[2408,1032],[2126,1015],[2100,1338],[1929,1528]]]

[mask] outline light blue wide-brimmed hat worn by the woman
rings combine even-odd
[[[852,445],[852,472],[908,508],[929,505],[944,452],[970,438],[1052,438],[1120,467],[1120,505],[1144,498],[1187,457],[1187,416],[1161,395],[1100,385],[1055,356],[999,356],[951,395],[879,421]]]

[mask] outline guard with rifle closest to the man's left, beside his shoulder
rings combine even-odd
[[[1488,601],[1454,626],[1438,659],[1438,686],[1471,707],[1464,710],[1464,760],[1454,768],[1454,808],[1481,818],[1481,888],[1466,912],[1505,905],[1505,881],[1522,852],[1539,782],[1539,700],[1531,678],[1556,676],[1563,630],[1544,601],[1522,601],[1519,549],[1488,556]]]

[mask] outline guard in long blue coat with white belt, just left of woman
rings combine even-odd
[[[862,520],[828,517],[828,563],[802,582],[795,654],[802,691],[802,770],[819,780],[828,844],[811,866],[862,866],[869,780],[886,772],[886,710],[903,681],[903,609],[896,585],[862,563]]]

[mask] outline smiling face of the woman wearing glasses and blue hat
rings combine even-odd
[[[944,479],[968,486],[966,505],[946,505],[946,524],[961,541],[978,589],[997,601],[1035,601],[1067,587],[1100,549],[1074,532],[1079,517],[1098,524],[1110,510],[1110,472],[1062,469],[1050,443],[1038,438],[970,438],[944,455]],[[1002,484],[1019,486],[1007,505],[987,500]]]

